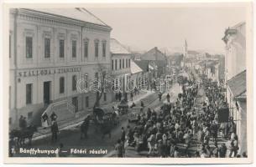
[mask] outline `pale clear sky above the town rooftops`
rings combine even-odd
[[[168,48],[224,53],[225,28],[245,21],[243,7],[87,8],[112,27],[111,38],[131,48],[147,51]]]

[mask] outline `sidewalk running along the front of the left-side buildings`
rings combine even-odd
[[[145,99],[146,97],[148,97],[149,95],[154,94],[154,91],[147,91],[147,92],[143,92],[141,91],[140,94],[133,96],[133,101],[128,100],[128,105],[131,105],[133,103],[138,104],[140,102],[141,99]],[[128,96],[129,99],[129,96]],[[120,102],[112,102],[111,104],[105,104],[102,105],[101,108],[105,109],[107,111],[112,111],[112,106],[117,107],[117,105]],[[65,122],[62,121],[61,124],[59,125],[59,130],[64,130],[64,129],[71,129],[74,128],[76,126],[79,126],[82,121],[86,118],[86,116],[88,114],[92,113],[92,109],[90,109],[87,112],[81,111],[79,117],[77,117],[76,119],[67,119]],[[51,131],[50,131],[50,127],[43,129],[42,127],[39,127],[38,131],[34,133],[34,137],[33,140],[38,140],[38,139],[44,139],[51,136]]]

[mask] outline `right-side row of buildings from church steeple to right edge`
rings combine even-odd
[[[225,56],[189,51],[185,41],[181,66],[195,67],[222,87],[228,104],[229,116],[236,124],[239,153],[247,152],[247,70],[246,23],[227,28],[222,41]]]

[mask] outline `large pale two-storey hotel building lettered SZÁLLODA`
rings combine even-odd
[[[17,126],[20,115],[30,124],[39,124],[49,104],[69,104],[74,113],[89,109],[96,95],[79,91],[76,83],[87,80],[83,87],[89,88],[89,80],[98,75],[95,64],[110,68],[112,28],[84,8],[61,10],[10,11],[11,126]],[[102,103],[112,100],[106,97]],[[62,112],[59,118],[66,119],[69,111],[57,104]]]

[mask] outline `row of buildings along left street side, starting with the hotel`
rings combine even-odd
[[[91,91],[102,76],[111,76],[112,89],[126,92],[165,73],[165,55],[157,48],[133,61],[110,37],[112,28],[85,8],[15,8],[9,14],[11,128],[21,115],[41,124],[43,113],[55,112],[61,122],[89,111],[97,100],[111,103],[112,91]]]

